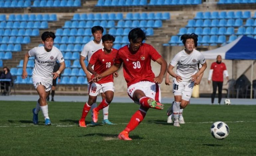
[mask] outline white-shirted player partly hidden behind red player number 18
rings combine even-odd
[[[87,57],[87,60],[89,62],[92,54],[95,53],[97,50],[102,49],[104,47],[102,45],[102,40],[101,40],[103,32],[104,32],[104,29],[101,26],[92,27],[91,28],[91,33],[92,33],[92,36],[93,36],[93,40],[89,41],[88,43],[86,43],[84,45],[84,47],[81,51],[81,54],[80,54],[80,65],[81,65],[84,73],[86,74],[86,78],[87,78],[88,81],[91,80],[92,74],[87,70],[84,60]],[[92,69],[93,69],[93,66],[92,66]],[[88,92],[89,92],[89,85],[88,85]],[[100,90],[99,93],[101,93],[102,100],[105,99],[105,94],[103,93],[103,91]],[[91,116],[93,116],[92,110],[96,107],[97,107],[97,104],[96,104],[96,101],[95,101],[95,103],[91,106]],[[102,121],[102,123],[104,123],[104,124],[113,124],[112,122],[110,122],[108,120],[108,108],[109,107],[105,107],[103,109],[103,121]],[[91,122],[91,124],[95,125],[95,123],[93,121]]]

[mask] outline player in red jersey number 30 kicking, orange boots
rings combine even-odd
[[[160,104],[161,92],[158,84],[163,81],[167,69],[166,61],[153,46],[142,43],[146,39],[146,33],[142,29],[132,29],[128,39],[130,44],[118,50],[114,65],[92,79],[97,81],[116,72],[123,63],[128,95],[140,105],[140,109],[135,112],[126,128],[118,135],[120,140],[132,140],[129,138],[129,132],[140,124],[149,108],[163,110],[164,107]],[[151,69],[151,59],[161,65],[158,76],[155,76]]]

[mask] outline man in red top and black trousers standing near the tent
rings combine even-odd
[[[222,98],[222,85],[223,85],[223,73],[228,80],[228,73],[225,63],[221,62],[221,55],[217,56],[217,61],[211,64],[211,68],[209,71],[208,84],[211,83],[212,80],[212,88],[213,92],[211,94],[211,104],[214,103],[215,94],[218,86],[218,104],[221,102]]]

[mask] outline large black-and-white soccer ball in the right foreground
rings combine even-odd
[[[216,139],[225,139],[229,134],[229,127],[225,122],[218,121],[211,125],[211,135]]]

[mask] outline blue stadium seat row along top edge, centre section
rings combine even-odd
[[[201,0],[98,0],[96,6],[198,5]]]

